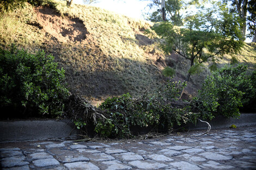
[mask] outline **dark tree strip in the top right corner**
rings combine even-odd
[[[251,0],[248,2],[248,12],[250,14],[247,17],[250,31],[248,37],[253,37],[252,42],[256,42],[256,0]]]

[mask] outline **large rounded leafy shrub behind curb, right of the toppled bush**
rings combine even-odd
[[[245,75],[247,66],[224,66],[209,75],[194,98],[202,116],[212,119],[217,115],[238,118],[239,108],[248,101],[252,81]]]

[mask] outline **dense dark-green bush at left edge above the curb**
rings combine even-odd
[[[32,55],[15,46],[0,49],[1,117],[62,113],[68,97],[64,79],[64,70],[58,70],[53,56],[44,51]]]

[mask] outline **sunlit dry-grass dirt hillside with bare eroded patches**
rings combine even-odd
[[[29,52],[44,49],[64,67],[70,91],[78,92],[95,104],[109,96],[129,92],[140,95],[168,78],[161,71],[175,69],[175,80],[183,81],[187,61],[177,54],[165,55],[144,30],[153,23],[128,18],[87,5],[68,8],[63,1],[49,0],[44,7],[26,7],[0,18],[0,45],[10,43]],[[255,65],[255,45],[246,45],[242,59]],[[230,62],[231,56],[218,61]],[[196,93],[209,73],[205,68],[192,75],[185,96]]]

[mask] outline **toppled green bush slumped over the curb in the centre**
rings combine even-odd
[[[186,83],[170,81],[156,89],[154,94],[135,99],[129,93],[108,98],[100,106],[107,119],[98,121],[95,131],[103,137],[129,137],[131,127],[170,130],[174,125],[194,121],[190,104],[179,99]]]

